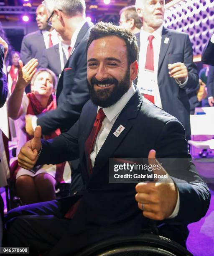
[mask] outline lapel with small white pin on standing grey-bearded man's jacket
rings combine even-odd
[[[161,49],[160,49],[160,55],[159,55],[159,61],[158,61],[158,73],[160,72],[163,59],[166,56],[166,52],[168,50],[170,43],[171,43],[171,33],[170,31],[168,31],[167,28],[163,27],[162,38],[161,38]]]

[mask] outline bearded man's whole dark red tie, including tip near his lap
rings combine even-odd
[[[92,131],[89,134],[87,141],[85,142],[85,155],[86,155],[86,161],[87,161],[87,169],[89,170],[90,174],[92,174],[92,170],[93,170],[90,154],[92,153],[94,141],[97,138],[97,134],[99,133],[99,130],[102,127],[102,121],[104,120],[105,117],[106,117],[105,113],[103,112],[102,108],[100,108],[97,113],[96,119],[94,121]],[[65,218],[68,218],[68,219],[73,218],[74,213],[76,212],[79,206],[79,203],[80,203],[80,200],[71,206],[71,208],[66,212]]]

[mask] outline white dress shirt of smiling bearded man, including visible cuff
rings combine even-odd
[[[112,126],[114,125],[115,121],[117,120],[118,115],[120,114],[122,109],[125,107],[127,102],[130,100],[130,98],[134,95],[135,91],[136,91],[136,89],[135,89],[134,85],[132,84],[132,86],[129,88],[129,90],[121,97],[121,99],[118,102],[116,102],[115,105],[112,105],[108,108],[102,109],[103,112],[105,113],[106,117],[104,118],[104,120],[102,122],[102,126],[97,134],[97,138],[94,141],[92,153],[90,154],[92,167],[94,166],[96,156],[99,153],[100,148],[102,148],[102,145],[104,144],[107,136],[109,135],[109,133],[112,129]],[[100,108],[101,107],[98,106],[97,113]],[[112,133],[114,133],[114,132],[115,131],[112,131]],[[163,180],[161,181],[159,179],[158,182],[163,182]],[[168,177],[168,182],[173,182],[171,177]],[[176,207],[175,207],[173,213],[168,218],[174,218],[178,215],[178,211],[180,208],[180,197],[179,197],[178,188],[177,188],[177,192],[178,192],[177,193],[178,197],[177,197]]]

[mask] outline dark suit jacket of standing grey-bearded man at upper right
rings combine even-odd
[[[140,33],[136,34],[140,49]],[[164,43],[165,38],[168,43]],[[168,64],[183,62],[188,69],[188,82],[181,88],[168,72]],[[139,71],[140,72],[140,71]],[[161,95],[163,110],[175,116],[183,124],[186,136],[190,130],[190,105],[186,89],[196,89],[199,84],[199,76],[196,65],[193,62],[193,51],[189,36],[186,33],[163,28],[161,49],[158,61],[158,87]]]

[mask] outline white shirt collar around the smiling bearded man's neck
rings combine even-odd
[[[105,113],[106,117],[108,120],[111,122],[125,107],[127,102],[130,100],[130,98],[134,95],[136,89],[134,84],[132,83],[131,87],[127,92],[118,100],[114,105],[108,107],[108,108],[103,108],[103,112]],[[98,106],[97,112],[101,107]]]

